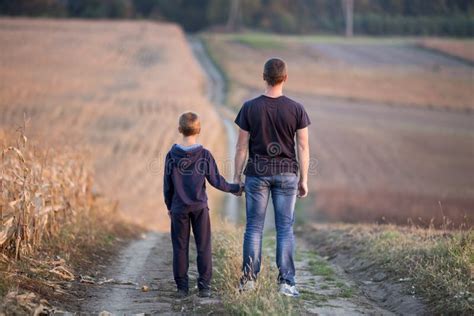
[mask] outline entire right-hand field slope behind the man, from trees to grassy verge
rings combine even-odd
[[[262,93],[267,58],[288,62],[286,94],[313,123],[309,219],[472,225],[474,116],[439,107],[474,107],[473,67],[401,39],[204,37],[235,108]]]

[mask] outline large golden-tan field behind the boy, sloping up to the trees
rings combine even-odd
[[[87,149],[93,191],[129,218],[168,229],[162,160],[181,112],[201,114],[202,142],[223,161],[223,127],[177,26],[1,19],[0,41],[0,127],[26,114],[27,135],[43,146]]]

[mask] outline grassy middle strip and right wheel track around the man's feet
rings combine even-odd
[[[238,286],[242,275],[243,229],[221,223],[213,235],[213,286],[225,310],[232,315],[375,312],[373,306],[361,299],[355,284],[336,271],[327,258],[307,249],[308,245],[303,240],[298,241],[295,251],[300,297],[289,298],[279,294],[274,230],[263,237],[262,268],[255,291],[241,293]]]

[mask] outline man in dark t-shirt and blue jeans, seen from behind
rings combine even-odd
[[[308,125],[311,122],[301,104],[283,95],[287,78],[283,60],[268,60],[263,70],[267,85],[265,93],[245,102],[237,115],[235,123],[240,131],[234,182],[242,182],[241,174],[248,152],[244,172],[247,221],[240,290],[255,287],[260,271],[265,213],[271,196],[275,209],[280,293],[296,297],[299,293],[295,287],[293,260],[294,210],[296,197],[304,198],[308,194]]]

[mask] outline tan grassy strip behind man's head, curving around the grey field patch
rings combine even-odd
[[[458,67],[403,67],[396,64],[370,67],[341,63],[320,52],[316,44],[344,45],[341,39],[272,35],[205,34],[214,59],[227,73],[229,103],[240,107],[242,100],[264,88],[262,65],[271,56],[289,64],[287,91],[293,94],[330,96],[385,104],[474,108],[470,69]],[[355,39],[356,45],[407,44],[411,40],[389,42]],[[383,52],[381,52],[383,54]]]

